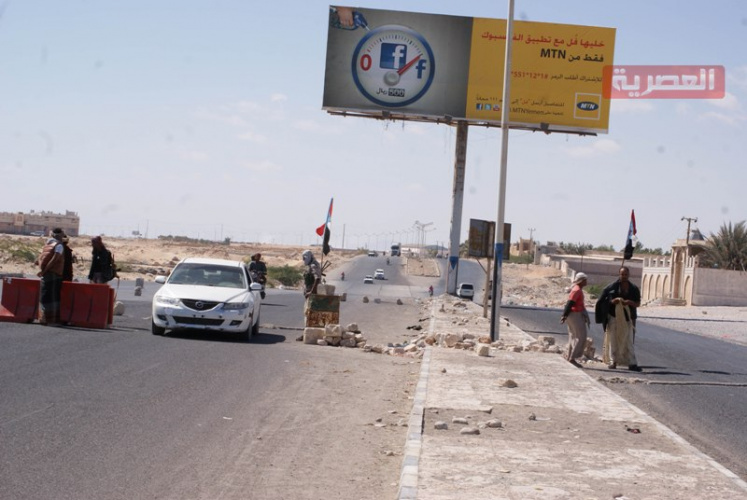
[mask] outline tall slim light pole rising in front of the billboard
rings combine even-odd
[[[506,65],[503,73],[503,102],[501,103],[501,178],[499,183],[500,193],[498,195],[498,216],[495,224],[495,259],[493,267],[493,299],[490,309],[490,339],[496,341],[500,338],[500,326],[498,320],[501,312],[501,298],[503,296],[503,223],[506,208],[506,169],[508,164],[508,111],[509,111],[509,84],[511,82],[511,47],[513,45],[514,32],[514,0],[508,0],[508,17],[506,18]],[[510,242],[509,242],[510,243]]]

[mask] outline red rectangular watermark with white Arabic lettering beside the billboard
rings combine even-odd
[[[723,99],[723,66],[605,66],[607,99]]]

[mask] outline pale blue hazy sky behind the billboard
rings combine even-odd
[[[617,29],[615,64],[723,65],[723,100],[615,100],[609,134],[512,131],[513,240],[669,249],[747,219],[747,2],[516,0],[517,20]],[[365,8],[505,18],[507,2]],[[456,131],[322,111],[328,2],[0,0],[0,211],[87,234],[447,242]],[[470,127],[462,236],[495,220],[500,129]]]

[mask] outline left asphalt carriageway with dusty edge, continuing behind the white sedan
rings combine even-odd
[[[351,276],[386,266],[363,262]],[[392,290],[427,294],[398,271],[390,266],[375,286],[344,283],[345,317],[373,341],[397,341],[417,322],[416,307],[384,309],[398,307]],[[159,285],[147,283],[141,297],[133,285],[120,284],[126,310],[111,329],[0,323],[0,498],[395,496],[407,431],[398,421],[411,409],[417,364],[297,342],[295,290],[268,290],[249,343],[198,331],[154,336]],[[382,309],[356,312],[363,293],[383,297]],[[375,327],[382,316],[388,328]]]

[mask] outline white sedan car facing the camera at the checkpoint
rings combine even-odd
[[[243,262],[187,258],[179,262],[153,297],[154,335],[196,329],[238,333],[245,340],[259,332],[260,292]]]

